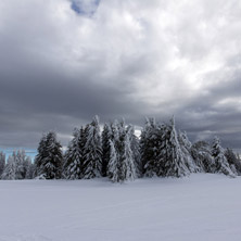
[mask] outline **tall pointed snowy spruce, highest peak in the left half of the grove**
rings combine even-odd
[[[90,179],[100,177],[102,170],[102,144],[98,116],[94,116],[92,123],[87,125],[86,135],[83,178]]]

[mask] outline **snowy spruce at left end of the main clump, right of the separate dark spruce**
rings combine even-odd
[[[84,161],[84,149],[81,147],[81,129],[74,129],[73,139],[71,140],[67,151],[64,155],[64,176],[67,179],[80,179],[83,161]]]

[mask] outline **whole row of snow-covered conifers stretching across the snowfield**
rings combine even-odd
[[[99,117],[75,128],[63,153],[56,134],[42,136],[31,163],[24,151],[13,152],[5,163],[0,152],[1,179],[90,179],[107,177],[113,182],[141,177],[183,177],[191,173],[241,175],[241,160],[231,149],[224,150],[215,137],[212,143],[191,143],[186,132],[169,123],[147,118],[140,137],[125,120],[105,123]]]

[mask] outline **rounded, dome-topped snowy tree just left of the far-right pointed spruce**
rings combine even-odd
[[[215,161],[208,142],[198,141],[193,143],[191,155],[201,172],[215,173]]]

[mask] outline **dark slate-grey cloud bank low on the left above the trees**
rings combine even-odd
[[[113,116],[135,115],[140,107],[128,102],[125,88],[103,87],[88,77],[76,80],[38,73],[8,76],[1,84],[0,132],[7,137],[1,145],[36,144],[40,137],[36,132],[54,129],[71,135],[75,126],[86,124],[94,114],[107,120]],[[11,132],[13,138],[5,143]]]

